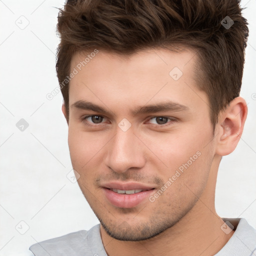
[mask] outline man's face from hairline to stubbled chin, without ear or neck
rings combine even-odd
[[[193,208],[214,156],[195,53],[93,55],[80,70],[87,53],[71,61],[78,72],[69,88],[68,145],[77,182],[109,235],[150,238]]]

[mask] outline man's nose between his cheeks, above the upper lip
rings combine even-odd
[[[116,128],[115,136],[108,143],[105,164],[115,172],[130,168],[139,169],[145,164],[145,148],[132,128],[127,131]]]

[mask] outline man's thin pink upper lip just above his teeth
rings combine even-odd
[[[103,183],[101,184],[101,186],[109,189],[119,189],[119,190],[133,190],[133,189],[149,190],[154,188],[152,185],[146,185],[138,182],[117,182],[117,181]]]

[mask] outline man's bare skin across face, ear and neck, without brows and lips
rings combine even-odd
[[[76,53],[73,68],[87,53]],[[173,67],[183,74],[169,75]],[[194,71],[195,70],[195,71]],[[241,136],[247,107],[237,97],[219,115],[213,134],[207,95],[196,86],[193,50],[147,49],[129,56],[99,50],[70,81],[68,145],[78,184],[100,220],[100,235],[108,255],[213,255],[233,230],[225,234],[214,206],[221,156],[231,153]],[[90,101],[109,111],[80,109]],[[171,100],[188,110],[139,113],[138,106]],[[103,116],[98,123],[86,115]],[[168,117],[165,124],[159,118]],[[131,127],[118,123],[126,118]],[[93,123],[94,121],[94,123]],[[91,124],[92,126],[89,126]],[[165,126],[163,126],[165,125]],[[153,202],[121,208],[109,203],[103,182],[137,181],[159,190],[191,156],[187,169]],[[154,194],[154,193],[152,193]]]

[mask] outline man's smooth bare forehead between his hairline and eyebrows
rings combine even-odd
[[[126,56],[91,52],[73,55],[70,70],[75,69],[76,74],[69,83],[69,104],[86,99],[123,110],[149,101],[172,100],[189,106],[203,93],[196,86],[196,53],[192,49],[147,49]]]

